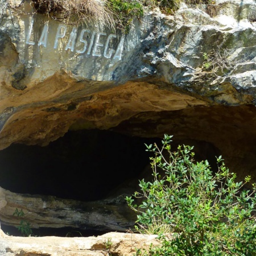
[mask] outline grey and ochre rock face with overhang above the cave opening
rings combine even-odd
[[[212,144],[239,179],[256,181],[255,1],[182,5],[172,16],[155,10],[134,20],[127,35],[97,22],[57,22],[35,13],[28,0],[0,7],[2,150],[46,146],[68,130],[168,133],[202,151]],[[6,224],[15,224],[16,197],[2,199]]]

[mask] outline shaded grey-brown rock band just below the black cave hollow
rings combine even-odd
[[[53,196],[17,194],[0,188],[0,220],[2,224],[19,226],[15,209],[23,210],[23,221],[31,228],[64,228],[79,230],[116,230],[125,232],[134,227],[136,216],[124,199],[81,202]]]

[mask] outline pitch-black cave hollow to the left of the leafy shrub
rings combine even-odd
[[[97,201],[117,194],[130,180],[139,180],[150,170],[146,144],[161,144],[162,138],[131,137],[108,130],[68,131],[48,146],[12,144],[0,151],[0,187],[11,192],[56,196],[60,199]],[[176,142],[177,144],[180,144]],[[193,141],[191,141],[193,146]],[[215,162],[216,148],[205,156],[205,142],[197,143],[201,159]],[[208,150],[209,151],[209,150]],[[212,160],[212,161],[211,161]],[[137,183],[138,184],[138,183]],[[123,191],[122,191],[123,192]],[[133,194],[134,191],[127,191]],[[14,226],[2,224],[2,230],[14,236]],[[97,236],[113,230],[77,228],[32,229],[35,236]]]

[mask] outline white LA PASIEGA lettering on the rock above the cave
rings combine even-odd
[[[30,26],[28,28],[28,33],[26,37],[26,44],[31,46],[35,45],[35,42],[31,39],[32,30],[34,27],[34,19],[31,19]],[[44,24],[42,34],[38,41],[38,46],[48,47],[48,22]],[[90,36],[90,39],[85,39],[87,35]],[[117,35],[110,34],[107,35],[105,32],[96,32],[88,29],[82,29],[80,34],[77,34],[77,28],[73,27],[71,33],[67,33],[67,25],[59,24],[59,27],[56,30],[55,41],[53,48],[57,49],[60,43],[61,38],[67,36],[68,41],[64,46],[65,51],[77,52],[80,54],[92,55],[92,56],[104,56],[107,59],[113,57],[113,59],[121,60],[122,51],[123,51],[123,42],[124,37],[122,36],[116,49],[110,47],[110,42],[112,40],[117,40]],[[77,46],[76,42],[79,42]]]

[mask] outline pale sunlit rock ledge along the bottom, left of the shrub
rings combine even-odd
[[[1,230],[0,230],[1,231]],[[2,256],[134,255],[136,249],[158,244],[155,235],[107,233],[98,237],[11,237],[1,234]]]

